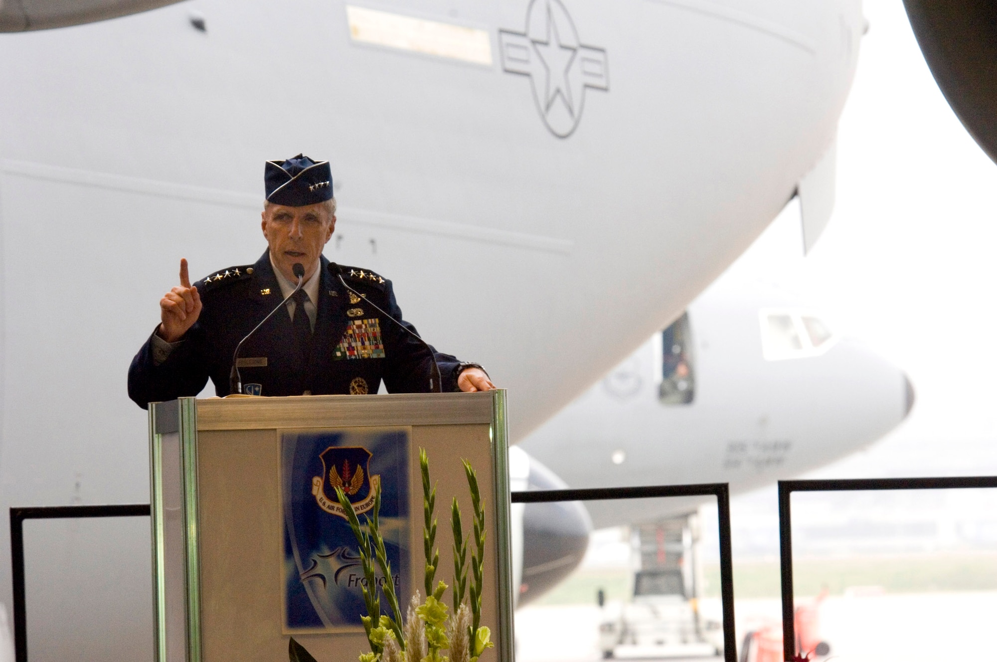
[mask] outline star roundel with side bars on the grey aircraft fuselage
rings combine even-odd
[[[530,0],[526,31],[498,31],[502,69],[528,76],[533,101],[554,136],[578,126],[585,88],[609,90],[605,49],[583,46],[560,0]]]

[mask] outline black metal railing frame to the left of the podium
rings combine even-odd
[[[48,505],[10,509],[10,562],[14,591],[14,654],[28,662],[28,614],[24,595],[24,520],[77,517],[149,516],[149,503],[128,505]]]

